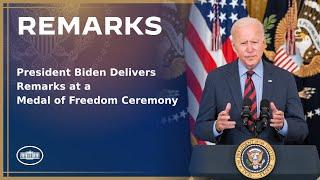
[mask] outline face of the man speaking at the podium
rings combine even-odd
[[[257,25],[251,24],[238,28],[232,37],[233,49],[247,69],[253,69],[261,60],[266,47],[262,33]]]

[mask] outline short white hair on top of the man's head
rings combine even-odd
[[[258,26],[259,31],[261,32],[261,34],[264,37],[264,27],[263,24],[256,18],[252,18],[252,17],[243,17],[239,20],[237,20],[233,26],[231,27],[231,35],[232,37],[234,37],[234,35],[236,34],[237,29],[239,28],[245,28],[248,25],[252,25],[255,24]]]

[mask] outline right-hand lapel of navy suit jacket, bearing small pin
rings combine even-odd
[[[267,62],[263,62],[263,92],[262,99],[267,99],[270,101],[271,92],[274,89],[274,79],[272,75],[273,69],[271,64]]]

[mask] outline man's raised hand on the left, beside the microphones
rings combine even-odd
[[[229,121],[230,120],[230,115],[229,115],[230,110],[231,110],[231,104],[228,103],[225,110],[221,111],[218,114],[218,118],[216,120],[216,127],[215,127],[218,132],[222,132],[225,129],[235,128],[236,122]]]

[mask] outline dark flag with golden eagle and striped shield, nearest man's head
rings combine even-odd
[[[298,70],[301,64],[298,57],[292,56],[296,54],[294,38],[296,16],[295,0],[270,0],[263,21],[267,43],[265,54],[274,65],[289,72]]]

